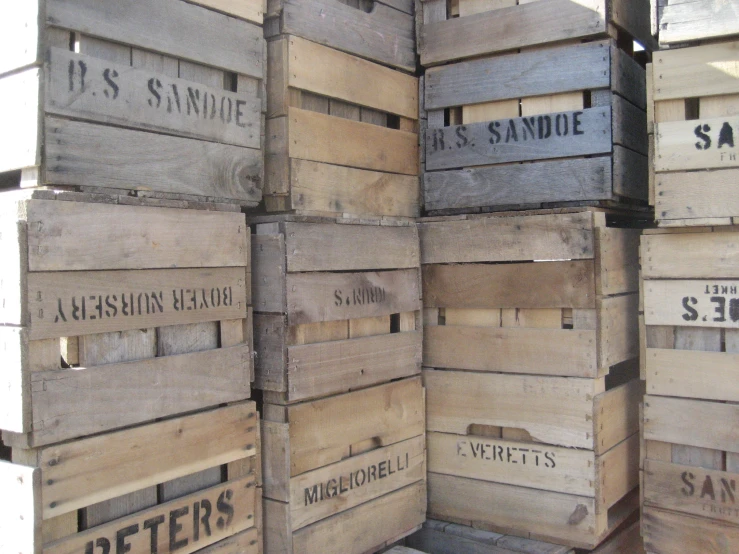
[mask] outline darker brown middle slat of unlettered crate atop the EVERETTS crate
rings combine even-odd
[[[427,265],[430,308],[594,308],[593,262]]]

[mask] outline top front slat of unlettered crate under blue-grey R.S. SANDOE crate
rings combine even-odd
[[[515,262],[594,257],[592,214],[421,223],[422,262]],[[464,240],[466,247],[459,248]]]

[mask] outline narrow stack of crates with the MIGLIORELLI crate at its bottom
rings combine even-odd
[[[374,4],[374,6],[373,6]],[[254,235],[265,550],[363,554],[425,520],[413,2],[270,2]]]

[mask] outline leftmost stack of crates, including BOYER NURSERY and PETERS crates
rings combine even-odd
[[[3,552],[261,549],[264,10],[231,4],[3,10]]]

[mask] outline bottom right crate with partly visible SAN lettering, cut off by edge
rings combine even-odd
[[[710,368],[693,369],[703,373]],[[728,381],[722,385],[732,386]],[[735,402],[644,398],[647,552],[739,549],[737,418]]]

